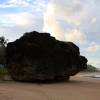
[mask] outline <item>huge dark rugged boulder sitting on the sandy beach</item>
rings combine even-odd
[[[8,43],[6,53],[14,80],[68,79],[87,67],[87,59],[80,56],[75,44],[56,40],[49,33],[25,33]]]

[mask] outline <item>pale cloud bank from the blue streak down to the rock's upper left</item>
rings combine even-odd
[[[29,12],[3,14],[0,16],[0,24],[0,35],[13,41],[28,31],[37,30],[41,32],[43,17]]]

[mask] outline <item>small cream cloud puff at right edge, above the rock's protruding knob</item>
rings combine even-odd
[[[89,47],[86,49],[87,52],[91,52],[91,53],[96,53],[98,51],[100,51],[100,45],[92,42]]]

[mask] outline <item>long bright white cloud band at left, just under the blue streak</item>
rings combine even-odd
[[[13,13],[13,14],[2,14],[0,16],[1,26],[31,26],[32,24],[38,23],[39,20],[43,20],[42,16],[37,16],[29,12]]]

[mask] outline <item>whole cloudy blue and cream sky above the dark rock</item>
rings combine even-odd
[[[49,32],[80,47],[100,68],[100,0],[0,0],[0,36],[14,41],[25,32]]]

